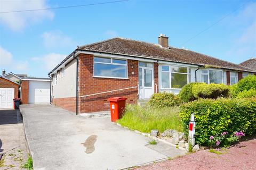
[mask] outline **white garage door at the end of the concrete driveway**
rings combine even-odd
[[[50,81],[29,81],[29,104],[50,103]]]

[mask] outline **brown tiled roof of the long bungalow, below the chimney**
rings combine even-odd
[[[155,60],[195,64],[223,69],[256,72],[248,67],[230,63],[211,56],[181,48],[164,48],[160,45],[124,38],[113,38],[99,43],[78,47],[79,50],[117,55],[152,58]]]

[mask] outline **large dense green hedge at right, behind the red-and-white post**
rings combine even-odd
[[[195,140],[199,145],[209,145],[211,135],[225,131],[229,134],[243,131],[246,135],[256,132],[256,98],[199,99],[182,105],[180,109],[185,133],[188,133],[191,113],[195,114]]]

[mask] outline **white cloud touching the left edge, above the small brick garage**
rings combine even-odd
[[[10,52],[0,46],[0,69],[10,72],[27,71],[28,62],[15,60]]]

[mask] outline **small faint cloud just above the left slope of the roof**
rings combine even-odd
[[[73,39],[64,35],[59,30],[44,32],[41,37],[47,49],[76,46],[76,42]]]

